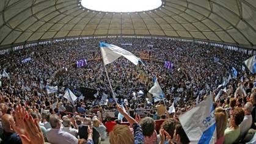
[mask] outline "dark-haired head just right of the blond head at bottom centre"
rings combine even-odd
[[[142,133],[144,136],[151,137],[155,131],[155,121],[153,118],[145,117],[139,122],[141,124]]]

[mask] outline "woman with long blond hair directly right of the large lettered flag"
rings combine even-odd
[[[224,143],[224,131],[227,125],[227,113],[222,107],[217,107],[215,109],[215,119],[217,131],[217,141],[215,144],[222,144]]]

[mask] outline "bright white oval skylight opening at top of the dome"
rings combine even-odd
[[[161,0],[81,0],[82,7],[100,12],[143,12],[157,9]]]

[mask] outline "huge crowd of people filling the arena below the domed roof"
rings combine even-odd
[[[145,63],[136,66],[122,57],[106,65],[117,103],[99,41]],[[61,41],[10,52],[0,57],[1,143],[189,143],[178,117],[208,95],[216,108],[216,143],[249,142],[256,129],[256,77],[243,68],[249,57],[194,42],[136,38]],[[87,65],[78,68],[81,59]],[[164,68],[165,60],[172,68]],[[163,99],[148,93],[153,77]],[[47,93],[46,85],[57,92]],[[80,87],[98,94],[80,99]],[[75,103],[63,97],[67,88],[79,97]],[[175,112],[169,112],[173,103]]]

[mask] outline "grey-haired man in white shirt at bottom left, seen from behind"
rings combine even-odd
[[[56,114],[53,114],[49,118],[49,123],[51,124],[52,129],[46,133],[46,138],[49,143],[54,144],[73,144],[78,143],[78,139],[74,135],[69,134],[68,132],[62,131],[60,129],[60,120]]]

